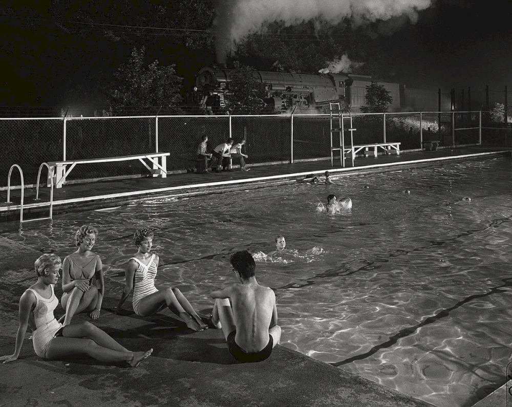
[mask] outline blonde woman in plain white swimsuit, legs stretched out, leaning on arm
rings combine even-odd
[[[90,322],[61,325],[53,314],[59,303],[53,287],[59,278],[60,266],[59,256],[53,253],[43,254],[35,261],[37,283],[30,286],[19,299],[19,327],[14,353],[1,356],[0,361],[7,363],[18,358],[29,326],[34,351],[45,359],[87,354],[102,362],[126,362],[135,367],[151,355],[153,349],[146,352],[127,350]]]

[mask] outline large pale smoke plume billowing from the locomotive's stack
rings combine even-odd
[[[219,0],[217,61],[225,63],[237,42],[262,31],[266,23],[282,21],[291,26],[321,19],[334,25],[348,18],[361,25],[402,15],[414,23],[418,11],[429,8],[431,3],[432,0]]]

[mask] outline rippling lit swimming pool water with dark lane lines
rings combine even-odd
[[[510,159],[335,181],[151,199],[22,232],[17,223],[0,228],[66,255],[75,229],[93,224],[108,291],[135,252],[133,229],[150,225],[158,283],[179,286],[198,310],[233,281],[232,252],[268,253],[283,234],[287,253],[257,255],[260,283],[276,292],[283,346],[442,407],[472,405],[503,384],[512,359]],[[352,210],[316,212],[328,194],[350,196]]]

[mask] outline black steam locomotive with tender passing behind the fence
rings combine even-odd
[[[232,70],[202,68],[196,77],[201,109],[213,113],[225,108],[226,84]],[[265,84],[267,110],[272,113],[290,112],[294,108],[326,111],[330,102],[340,103],[343,109],[357,111],[365,104],[366,86],[370,76],[343,74],[305,74],[256,71],[255,78]],[[398,83],[379,82],[391,93],[393,107],[400,105]],[[301,111],[302,109],[299,109]]]

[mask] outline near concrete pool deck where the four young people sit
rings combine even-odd
[[[14,351],[19,296],[35,282],[33,262],[41,253],[5,238],[0,238],[0,249],[4,258],[0,355],[7,355]],[[59,285],[55,286],[58,297]],[[191,331],[168,311],[146,318],[129,307],[113,313],[121,290],[121,284],[109,281],[95,324],[128,349],[153,348],[150,358],[137,368],[109,366],[90,358],[45,360],[35,355],[31,340],[25,339],[19,359],[0,365],[0,405],[431,405],[279,345],[263,362],[234,363],[221,330]],[[56,314],[62,314],[60,307]],[[79,314],[74,322],[86,319]]]

